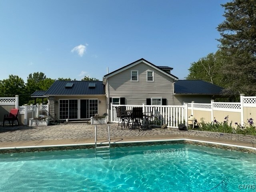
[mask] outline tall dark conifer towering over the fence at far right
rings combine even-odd
[[[226,63],[226,93],[256,94],[256,1],[232,0],[223,4],[225,20],[218,25],[220,49]]]

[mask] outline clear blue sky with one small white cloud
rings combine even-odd
[[[140,58],[174,68],[218,50],[228,0],[0,0],[0,80],[98,78]]]

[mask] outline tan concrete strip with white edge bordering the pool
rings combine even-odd
[[[222,146],[232,146],[237,148],[246,148],[256,151],[256,144],[253,142],[240,142],[221,138],[210,138],[191,135],[158,135],[158,136],[134,136],[134,137],[112,137],[111,144],[159,142],[159,141],[191,141],[206,144],[215,144]],[[107,142],[106,138],[98,138],[98,143]],[[90,145],[94,147],[94,138],[80,139],[60,139],[60,140],[42,140],[42,141],[20,141],[20,142],[2,142],[0,150],[28,149],[28,148],[47,148],[47,147],[65,147]]]

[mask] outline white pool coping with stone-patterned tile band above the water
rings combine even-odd
[[[208,138],[209,139],[209,138]],[[233,141],[234,142],[234,141]],[[97,142],[97,144],[106,143],[106,139],[102,139],[102,142]],[[166,138],[166,139],[144,139],[144,140],[127,140],[126,141],[112,141],[110,142],[113,147],[121,146],[141,146],[141,145],[156,145],[156,144],[193,144],[198,146],[207,146],[212,148],[222,148],[225,150],[235,150],[240,152],[256,154],[256,147],[254,144],[249,144],[251,146],[246,146],[239,144],[232,144],[230,140],[226,142],[221,141],[209,141],[204,139],[192,139],[192,138]],[[41,152],[41,151],[54,151],[54,150],[77,150],[77,149],[92,149],[95,148],[95,142],[78,142],[73,144],[51,144],[51,145],[30,145],[30,146],[11,146],[11,147],[1,147],[0,154],[3,153],[22,153],[22,152]]]

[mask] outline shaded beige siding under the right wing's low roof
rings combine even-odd
[[[209,95],[175,95],[174,94],[174,104],[182,105],[183,102],[191,103],[211,103],[211,97]]]

